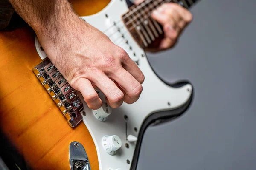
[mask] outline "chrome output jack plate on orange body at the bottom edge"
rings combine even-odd
[[[71,170],[91,170],[87,153],[81,143],[76,141],[70,143],[69,159]]]

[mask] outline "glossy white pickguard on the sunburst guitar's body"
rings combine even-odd
[[[140,99],[132,105],[124,103],[120,108],[113,109],[112,114],[108,116],[106,122],[97,120],[93,116],[92,110],[83,101],[84,111],[86,112],[86,116],[83,116],[83,121],[95,143],[100,170],[108,170],[110,168],[130,169],[131,164],[128,164],[127,160],[132,160],[136,142],[128,142],[126,140],[125,123],[127,123],[127,134],[137,136],[143,120],[148,115],[156,111],[178,108],[185,104],[192,95],[192,85],[187,84],[180,88],[172,88],[163,83],[154,74],[145,57],[144,50],[137,45],[130,34],[128,34],[128,30],[122,21],[120,21],[122,14],[126,11],[128,11],[128,7],[125,0],[111,0],[108,6],[99,13],[82,17],[86,22],[108,35],[116,45],[121,46],[132,60],[139,62],[139,68],[145,75],[143,92]],[[108,17],[106,17],[106,14]],[[116,23],[116,26],[113,26],[113,22]],[[117,31],[118,27],[120,28],[120,32]],[[122,34],[124,34],[124,39],[121,38]],[[128,40],[128,44],[125,43],[125,40]],[[46,58],[47,55],[40,50],[41,45],[37,38],[35,45],[40,57],[42,59]],[[130,46],[132,50],[129,49]],[[170,105],[168,105],[168,102]],[[124,115],[128,116],[127,121],[124,119]],[[137,127],[137,132],[134,131],[134,127]],[[116,155],[111,156],[103,149],[102,137],[105,135],[117,135],[122,140],[122,147],[117,151]],[[129,144],[130,147],[128,149],[125,147],[125,143]]]

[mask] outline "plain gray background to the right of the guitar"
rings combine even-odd
[[[166,81],[192,82],[195,97],[179,119],[148,128],[138,170],[256,169],[255,8],[202,0],[176,48],[148,54]]]

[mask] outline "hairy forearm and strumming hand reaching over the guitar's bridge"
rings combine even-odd
[[[102,100],[113,108],[137,101],[144,75],[128,54],[98,29],[84,22],[67,0],[10,0],[34,29],[49,59],[92,109]],[[114,80],[114,82],[112,81]]]

